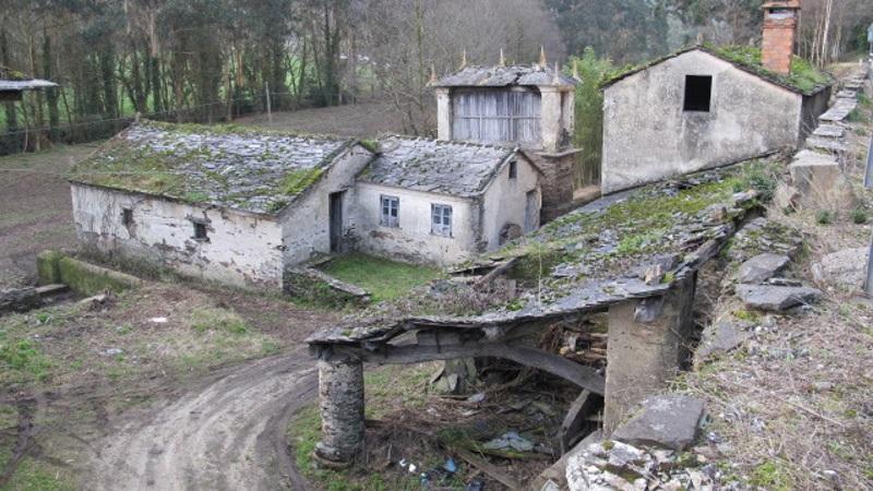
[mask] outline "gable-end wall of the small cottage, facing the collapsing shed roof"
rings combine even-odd
[[[539,226],[542,196],[539,194],[539,172],[523,156],[518,156],[518,177],[510,179],[510,166],[504,165],[485,192],[482,239],[488,250],[500,247],[500,232],[506,224],[525,228],[528,191],[537,191],[535,216]]]

